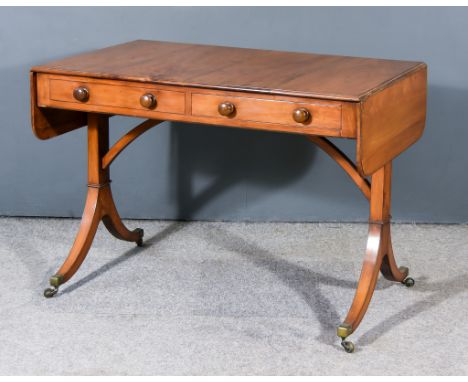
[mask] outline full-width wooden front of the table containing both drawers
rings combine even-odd
[[[350,102],[47,73],[37,74],[36,86],[37,106],[82,112],[347,138],[356,137],[359,122],[359,104]],[[142,102],[146,94],[154,107]],[[232,114],[220,111],[223,103]],[[308,117],[298,122],[298,112]]]

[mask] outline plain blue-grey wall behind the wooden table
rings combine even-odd
[[[85,129],[37,140],[28,69],[134,39],[422,60],[423,138],[394,162],[397,221],[468,221],[466,8],[0,8],[0,215],[80,216]],[[135,119],[111,120],[112,138]],[[354,156],[352,142],[338,142]],[[360,221],[367,204],[301,137],[164,124],[114,163],[132,218]]]

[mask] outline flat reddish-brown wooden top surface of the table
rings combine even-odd
[[[137,40],[34,72],[362,101],[422,62]]]

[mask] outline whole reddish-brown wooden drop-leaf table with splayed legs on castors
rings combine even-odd
[[[162,121],[301,134],[333,158],[369,200],[369,236],[345,338],[361,322],[379,271],[414,284],[390,239],[392,159],[421,136],[427,67],[422,62],[133,41],[31,69],[32,127],[49,139],[88,126],[88,195],[81,226],[46,297],[77,271],[99,222],[142,245],[112,199],[109,167],[134,139]],[[109,148],[109,117],[147,120]],[[325,137],[353,139],[355,161]],[[368,179],[370,178],[370,179]]]

